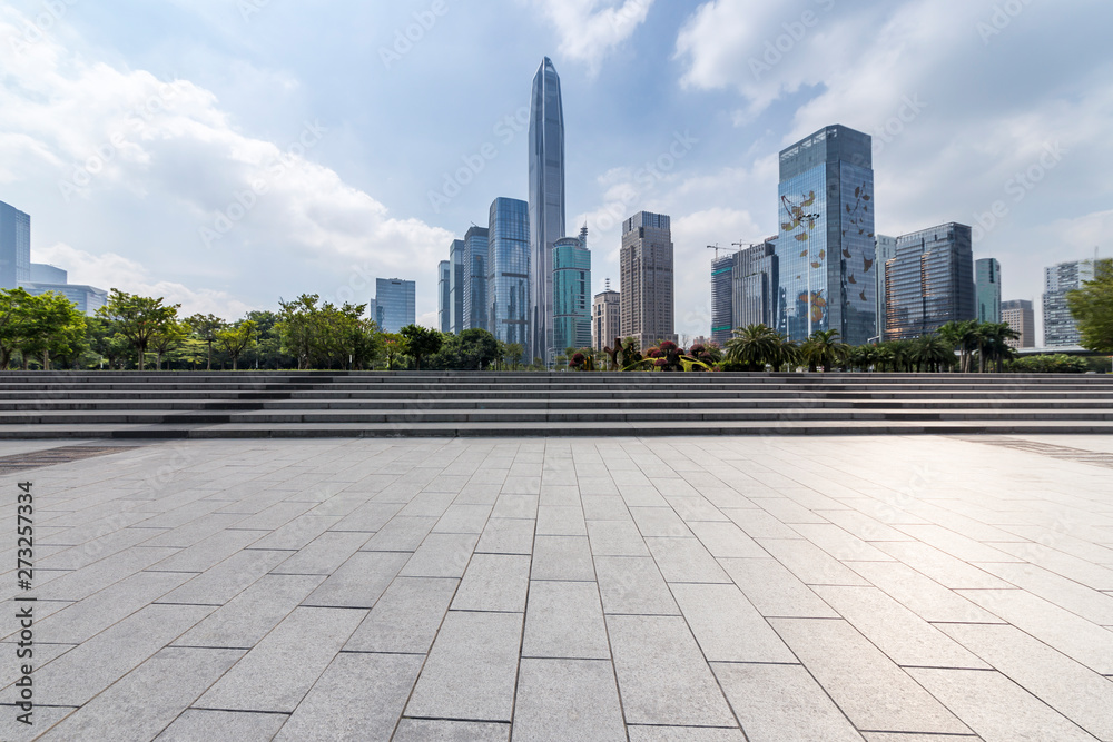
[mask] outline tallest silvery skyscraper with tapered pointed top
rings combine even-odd
[[[545,57],[533,78],[530,113],[530,358],[552,365],[552,248],[564,236],[564,111],[560,77]]]

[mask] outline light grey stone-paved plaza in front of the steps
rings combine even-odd
[[[2,740],[1113,740],[1113,436],[75,443]]]

